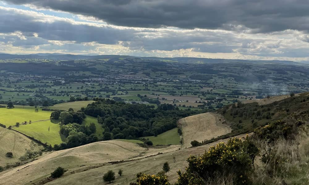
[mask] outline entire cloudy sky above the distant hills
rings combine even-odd
[[[309,61],[308,0],[0,0],[0,53]]]

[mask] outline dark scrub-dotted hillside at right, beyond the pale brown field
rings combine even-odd
[[[274,98],[276,99],[276,98]],[[257,102],[233,106],[226,106],[218,110],[222,113],[226,122],[231,124],[232,134],[252,132],[259,126],[268,125],[272,121],[280,120],[294,112],[306,111],[309,106],[309,92],[301,93],[293,97],[279,96],[278,101],[259,105]]]

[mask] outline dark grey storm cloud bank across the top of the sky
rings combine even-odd
[[[307,0],[7,0],[102,19],[129,27],[309,30]]]

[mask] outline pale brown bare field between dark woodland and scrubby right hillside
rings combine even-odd
[[[178,121],[183,133],[182,148],[191,147],[191,141],[202,142],[231,132],[229,125],[223,124],[224,117],[217,113],[203,113],[182,118]]]

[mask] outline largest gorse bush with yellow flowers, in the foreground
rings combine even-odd
[[[232,174],[235,184],[251,184],[249,176],[252,164],[259,149],[247,137],[242,142],[232,138],[226,144],[219,143],[210,147],[201,156],[190,156],[186,172],[178,172],[178,185],[205,184],[218,175]]]

